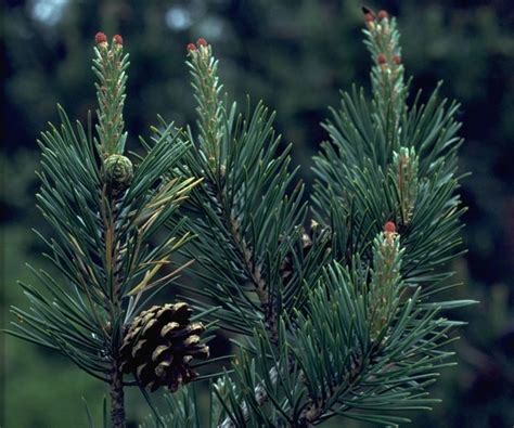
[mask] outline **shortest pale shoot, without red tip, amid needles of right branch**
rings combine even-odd
[[[399,198],[398,222],[403,225],[410,223],[417,197],[417,166],[414,147],[400,147],[399,153],[393,155],[393,179]]]

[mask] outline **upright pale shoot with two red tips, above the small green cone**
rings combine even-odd
[[[105,35],[99,33],[94,53],[92,68],[99,79],[95,88],[99,102],[97,131],[100,141],[97,144],[100,146],[99,152],[108,157],[121,154],[127,140],[123,111],[129,62],[128,54],[124,54],[123,38],[118,35],[108,43]]]

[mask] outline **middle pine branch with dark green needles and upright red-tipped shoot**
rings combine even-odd
[[[301,185],[287,195],[294,179],[287,171],[291,147],[275,157],[280,140],[273,115],[260,103],[253,115],[247,107],[246,115],[237,116],[235,104],[229,108],[220,100],[217,61],[205,40],[188,49],[200,135],[184,173],[203,180],[189,204],[198,236],[191,257],[198,259],[200,275],[209,284],[200,294],[221,307],[217,316],[227,327],[250,334],[262,317],[275,335],[282,304],[294,304],[285,295],[290,285],[281,287],[281,267],[301,239],[306,216]],[[299,277],[294,280],[291,288]]]

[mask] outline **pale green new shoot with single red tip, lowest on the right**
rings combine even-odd
[[[368,293],[370,338],[376,341],[389,325],[398,307],[401,286],[400,236],[388,221],[373,241],[373,270]]]

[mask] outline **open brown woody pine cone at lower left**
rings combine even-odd
[[[206,359],[209,348],[201,343],[201,323],[190,323],[187,303],[154,306],[134,317],[120,349],[124,373],[132,373],[140,385],[171,392],[193,380],[197,373],[189,363]]]

